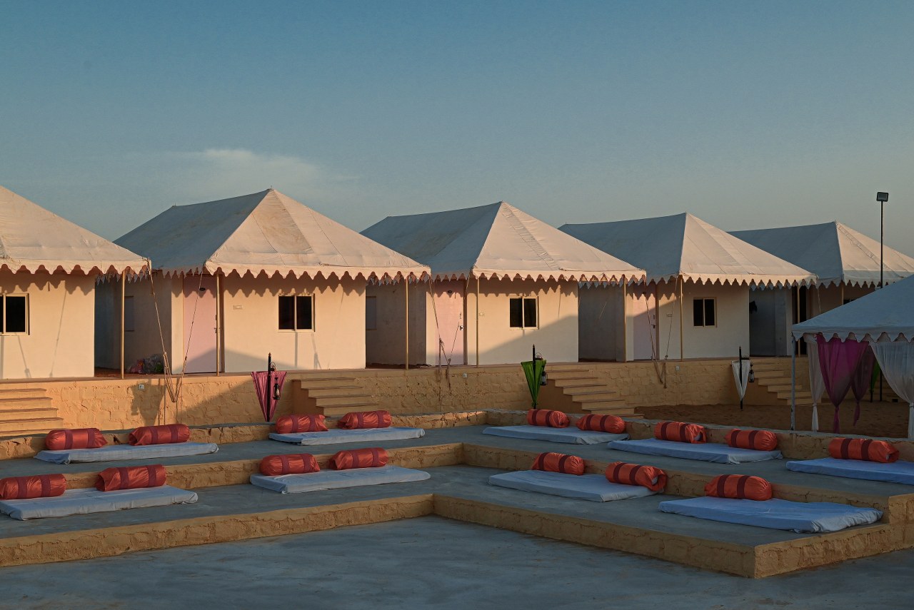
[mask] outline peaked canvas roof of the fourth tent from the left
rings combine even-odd
[[[815,279],[809,271],[691,214],[559,228],[645,268],[647,281],[672,281],[681,275],[696,283],[784,286]]]

